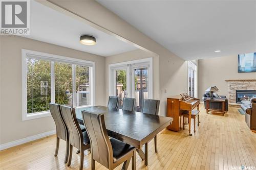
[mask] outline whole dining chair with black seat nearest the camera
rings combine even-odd
[[[123,163],[126,170],[132,159],[132,169],[136,169],[136,148],[115,138],[109,138],[106,131],[104,115],[82,111],[82,118],[91,141],[91,170],[95,161],[109,169]]]

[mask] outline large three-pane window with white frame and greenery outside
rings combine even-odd
[[[94,62],[22,50],[23,120],[49,116],[49,103],[91,106]]]

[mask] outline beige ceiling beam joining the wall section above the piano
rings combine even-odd
[[[66,15],[72,15],[74,18],[100,29],[105,33],[113,35],[129,43],[137,44],[143,49],[147,49],[159,55],[159,84],[160,84],[160,114],[166,114],[166,98],[171,95],[187,92],[187,64],[186,62],[168,51],[162,45],[153,39],[141,33],[138,29],[122,20],[120,17],[104,8],[96,1],[60,1],[49,0],[47,4],[53,9],[59,10],[59,7],[71,11],[63,11]],[[57,5],[57,6],[56,6]],[[61,10],[59,10],[61,11]],[[75,16],[73,16],[75,14]],[[153,80],[154,81],[154,80]],[[166,93],[165,93],[166,89]]]

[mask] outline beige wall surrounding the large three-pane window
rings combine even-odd
[[[52,117],[22,120],[22,49],[95,62],[96,105],[104,105],[105,58],[17,36],[1,36],[1,143],[55,129]]]

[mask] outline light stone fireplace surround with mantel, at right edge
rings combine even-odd
[[[246,91],[253,92],[253,90],[256,90],[256,79],[226,80],[226,81],[228,82],[227,98],[228,98],[229,104],[241,103],[240,101],[237,102],[237,90],[238,90],[238,92],[241,92],[241,90],[245,90],[244,92],[246,92]],[[247,98],[246,95],[245,95],[245,98]]]

